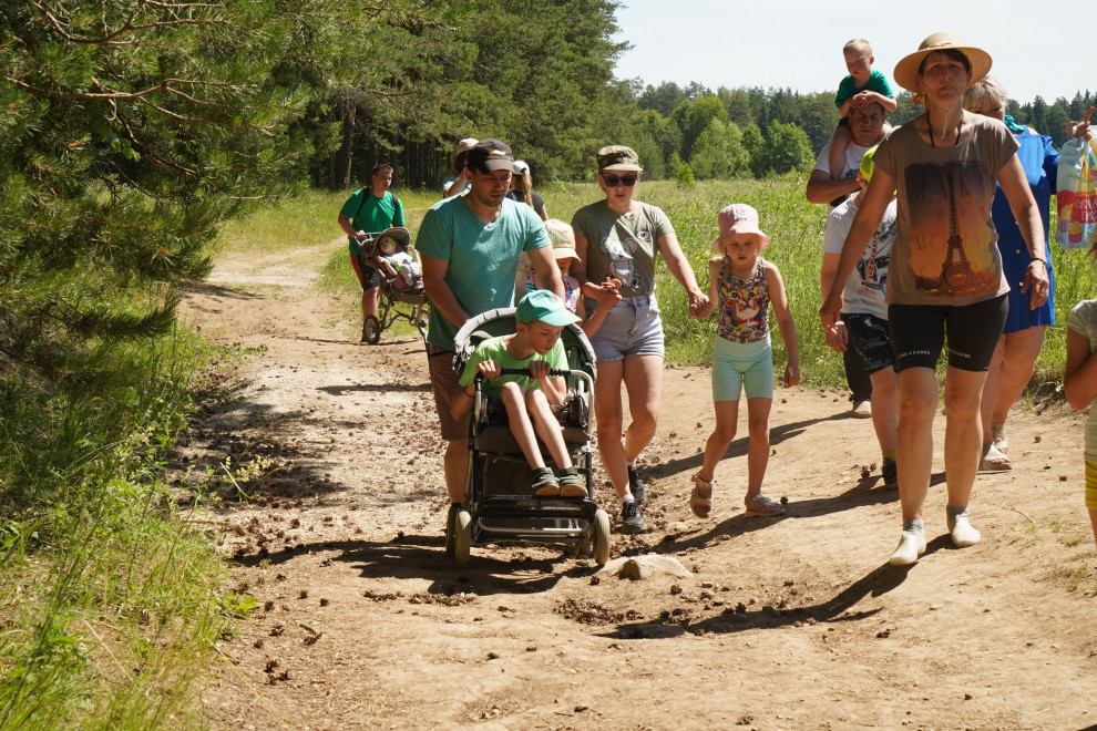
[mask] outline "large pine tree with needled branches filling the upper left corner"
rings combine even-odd
[[[110,379],[105,351],[172,327],[218,224],[293,188],[307,95],[271,76],[299,9],[277,7],[0,10],[0,374]]]

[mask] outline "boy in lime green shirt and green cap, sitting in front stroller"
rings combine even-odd
[[[539,289],[519,302],[514,312],[516,332],[484,340],[473,351],[461,375],[462,395],[452,405],[453,416],[461,419],[473,406],[473,379],[483,373],[484,389],[499,397],[506,411],[511,434],[530,464],[534,494],[539,497],[586,497],[586,478],[572,465],[560,422],[553,406],[561,406],[567,395],[564,379],[550,370],[568,370],[567,357],[560,340],[564,327],[578,318],[567,311],[564,301],[551,291]],[[502,369],[526,370],[529,374],[501,374]],[[560,471],[558,476],[545,466],[537,436],[544,442]]]

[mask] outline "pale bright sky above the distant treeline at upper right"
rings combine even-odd
[[[618,79],[645,84],[697,81],[717,86],[833,92],[845,74],[842,45],[872,43],[875,68],[893,81],[895,63],[926,35],[956,33],[991,54],[991,73],[1012,99],[1068,100],[1097,92],[1097,6],[1053,2],[811,2],[809,0],[623,0],[617,41],[633,49],[617,62]],[[886,8],[854,18],[861,8]],[[1062,31],[1060,31],[1062,29]],[[1074,52],[1064,34],[1073,32]],[[898,91],[898,90],[896,90]]]

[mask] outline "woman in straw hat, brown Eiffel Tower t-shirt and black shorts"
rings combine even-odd
[[[982,445],[980,394],[1009,291],[991,223],[995,182],[1028,248],[1022,287],[1029,306],[1047,299],[1043,224],[1017,157],[1017,142],[1001,122],[963,106],[964,90],[990,68],[990,54],[952,33],[930,35],[895,66],[895,81],[914,92],[925,113],[893,132],[876,151],[875,172],[820,309],[823,327],[832,327],[841,313],[842,287],[898,189],[888,321],[899,371],[896,462],[903,533],[892,564],[912,564],[925,552],[922,516],[937,405],[934,369],[946,333],[949,533],[958,547],[980,539],[967,513]]]

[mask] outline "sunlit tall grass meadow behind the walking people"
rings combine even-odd
[[[807,202],[803,191],[807,181],[787,177],[769,181],[701,182],[681,189],[671,181],[642,182],[637,187],[638,199],[660,207],[674,224],[681,248],[701,288],[708,286],[708,259],[714,256],[710,245],[718,233],[717,213],[729,203],[747,203],[758,209],[760,225],[771,245],[763,257],[781,272],[788,290],[792,317],[796,321],[800,347],[800,374],[803,382],[813,387],[844,388],[841,357],[827,347],[819,322],[822,297],[819,291],[819,270],[822,265],[822,237],[827,207]],[[545,200],[548,215],[571,222],[582,206],[601,197],[595,183],[548,183],[537,192]],[[438,202],[433,192],[399,191],[403,202],[408,227],[412,236],[418,231],[427,209]],[[311,194],[283,210],[270,212],[263,217],[269,227],[269,245],[278,246],[286,237],[279,230],[300,231],[297,245],[316,244],[329,235],[332,239],[331,256],[327,261],[321,285],[332,297],[346,303],[348,333],[359,327],[358,301],[360,289],[350,270],[345,239],[336,225],[336,216],[342,206],[344,194]],[[303,218],[304,217],[304,218]],[[243,227],[250,228],[244,223]],[[1052,212],[1052,228],[1055,212]],[[229,234],[230,236],[230,234]],[[295,234],[296,236],[296,234]],[[293,245],[286,241],[286,245]],[[1070,308],[1083,299],[1097,297],[1097,269],[1085,251],[1064,251],[1053,241],[1052,267],[1055,271],[1055,321],[1047,329],[1044,349],[1036,363],[1032,387],[1042,390],[1056,389],[1062,382],[1066,361],[1066,325]],[[675,366],[698,366],[711,360],[712,339],[716,337],[716,315],[699,322],[689,316],[684,290],[660,262],[656,285],[659,307],[663,311],[667,336],[667,361]],[[396,333],[410,333],[409,326],[397,323]],[[349,337],[349,336],[348,336]],[[773,337],[775,360],[785,362],[783,343]],[[942,366],[943,368],[943,366]],[[781,368],[776,369],[780,372]]]

